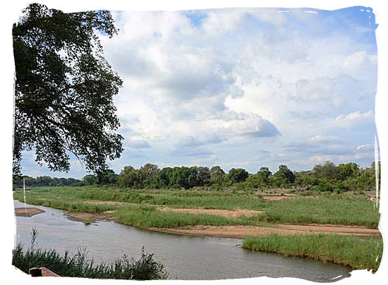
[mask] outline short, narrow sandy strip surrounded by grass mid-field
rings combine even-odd
[[[253,216],[255,214],[260,214],[262,211],[254,210],[217,210],[217,209],[192,209],[192,208],[170,208],[170,207],[157,207],[159,211],[171,211],[171,212],[183,212],[189,214],[215,214],[217,216],[223,217],[238,217],[238,216]]]

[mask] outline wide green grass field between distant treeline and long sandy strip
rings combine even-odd
[[[16,190],[14,198],[23,200],[23,191]],[[376,229],[380,213],[365,195],[330,194],[268,201],[251,193],[231,193],[206,190],[147,189],[134,190],[115,187],[40,187],[26,192],[30,204],[44,205],[71,212],[104,212],[116,210],[117,222],[138,227],[186,226],[193,224],[345,224]],[[97,200],[98,204],[87,201]],[[104,202],[126,202],[126,205]],[[220,210],[260,210],[253,217],[227,218],[209,214],[159,212],[156,205],[168,207],[205,208]],[[135,207],[138,206],[138,207]],[[147,206],[147,207],[140,207]],[[145,210],[147,209],[147,210]],[[146,214],[148,213],[148,214]]]

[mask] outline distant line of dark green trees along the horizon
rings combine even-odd
[[[380,162],[379,162],[380,164]],[[380,167],[379,167],[380,176]],[[25,177],[25,176],[24,176]],[[375,162],[365,169],[349,162],[336,165],[333,162],[318,164],[310,171],[291,171],[288,166],[280,165],[272,173],[268,167],[261,167],[255,174],[241,168],[232,168],[229,173],[220,166],[176,166],[159,169],[147,163],[139,169],[125,166],[120,174],[108,169],[99,175],[86,175],[83,180],[74,178],[37,178],[25,177],[26,186],[86,186],[115,185],[123,188],[194,188],[210,190],[236,187],[243,189],[294,188],[295,190],[314,190],[343,192],[375,189]],[[14,187],[23,186],[23,177],[14,178]]]

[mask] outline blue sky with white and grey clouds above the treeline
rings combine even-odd
[[[123,166],[311,169],[375,159],[377,44],[368,8],[113,11],[102,37],[123,79],[114,98]],[[25,153],[23,174],[50,172]]]

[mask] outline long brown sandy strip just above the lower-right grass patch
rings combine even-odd
[[[169,234],[188,236],[216,236],[224,238],[243,238],[247,235],[260,236],[267,234],[294,235],[294,234],[339,234],[356,236],[380,236],[378,229],[366,229],[356,226],[335,225],[298,225],[298,224],[273,224],[269,226],[189,226],[174,229],[151,228]]]

